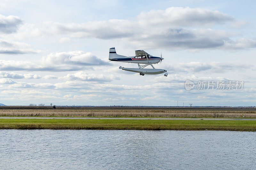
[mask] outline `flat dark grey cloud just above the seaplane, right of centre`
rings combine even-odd
[[[140,48],[167,49],[216,49],[223,47],[228,40],[229,33],[225,31],[183,28],[152,30],[128,38]]]

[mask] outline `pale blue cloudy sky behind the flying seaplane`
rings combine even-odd
[[[255,5],[0,0],[0,103],[255,106]],[[109,62],[111,47],[162,53],[168,76],[120,70],[138,66]]]

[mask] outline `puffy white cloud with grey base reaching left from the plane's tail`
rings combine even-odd
[[[14,61],[0,60],[0,70],[26,71],[76,71],[92,69],[91,66],[109,65],[92,53],[83,51],[51,53],[40,60]]]

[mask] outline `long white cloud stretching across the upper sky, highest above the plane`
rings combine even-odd
[[[141,12],[131,20],[110,19],[108,21],[90,21],[87,23],[44,22],[42,30],[50,34],[69,34],[71,37],[95,37],[114,39],[139,35],[147,30],[159,31],[182,26],[202,26],[225,23],[234,20],[219,11],[203,8],[170,7],[166,10]],[[146,28],[146,29],[143,29]],[[144,34],[142,34],[144,35]]]

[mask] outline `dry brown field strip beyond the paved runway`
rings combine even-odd
[[[256,109],[72,108],[2,106],[0,116],[256,118]]]

